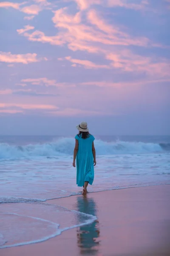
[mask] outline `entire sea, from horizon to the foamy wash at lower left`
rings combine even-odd
[[[74,144],[74,137],[0,136],[0,248],[45,241],[96,220],[81,209],[48,204],[82,193]],[[94,145],[89,193],[170,184],[170,136],[95,136]]]

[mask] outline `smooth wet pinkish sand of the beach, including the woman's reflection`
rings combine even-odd
[[[170,256],[170,185],[48,200],[96,215],[92,224],[47,241],[0,250],[0,256]]]

